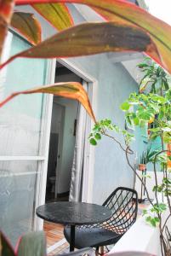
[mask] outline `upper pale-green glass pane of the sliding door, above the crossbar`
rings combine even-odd
[[[10,55],[30,45],[13,35]],[[3,73],[0,100],[14,90],[26,90],[45,84],[47,61],[20,58],[8,65]],[[1,79],[2,80],[2,79]],[[0,108],[0,155],[40,155],[43,94],[17,96]]]

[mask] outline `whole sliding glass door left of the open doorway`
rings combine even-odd
[[[23,38],[10,33],[6,57],[28,47]],[[14,90],[48,83],[48,63],[20,58],[9,64],[0,73],[0,100]],[[32,94],[18,96],[0,108],[0,228],[13,244],[34,229],[46,160],[47,102],[48,96]]]

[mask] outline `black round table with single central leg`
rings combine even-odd
[[[54,223],[71,225],[70,251],[73,251],[75,226],[102,223],[111,218],[111,210],[95,204],[59,201],[37,207],[37,216]]]

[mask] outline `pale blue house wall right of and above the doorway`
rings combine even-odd
[[[74,7],[71,7],[71,12],[77,23],[84,21]],[[43,38],[46,38],[54,29],[42,18],[41,21]],[[97,119],[109,118],[118,125],[124,125],[119,105],[131,91],[137,90],[137,85],[122,64],[113,65],[105,54],[72,58],[70,61],[98,80]],[[123,152],[111,140],[104,138],[95,150],[93,201],[102,203],[119,185],[133,187],[133,174],[128,169]]]

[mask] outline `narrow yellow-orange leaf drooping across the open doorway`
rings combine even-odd
[[[77,82],[56,83],[52,85],[33,88],[30,90],[14,92],[12,95],[3,100],[3,102],[0,102],[0,108],[3,107],[5,103],[9,102],[12,98],[14,98],[14,96],[31,93],[49,93],[54,94],[55,96],[62,96],[69,99],[77,100],[87,110],[90,117],[94,119],[94,122],[96,122],[93,109],[91,108],[90,102],[88,100],[87,92],[83,89],[83,85]]]

